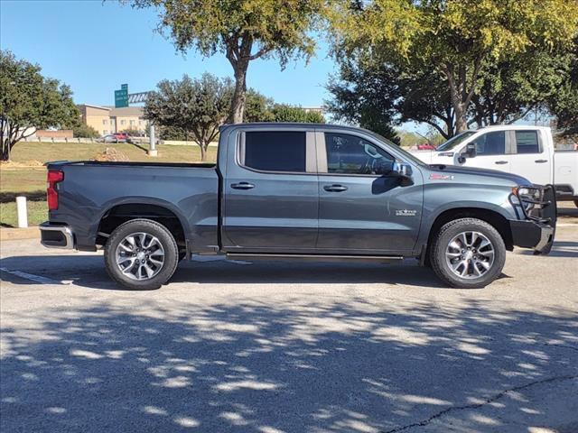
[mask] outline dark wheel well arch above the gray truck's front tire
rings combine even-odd
[[[435,221],[433,221],[433,226],[430,229],[430,234],[427,238],[428,249],[433,242],[434,234],[439,232],[446,223],[460,218],[478,218],[487,222],[490,226],[493,226],[498,230],[499,235],[501,235],[504,240],[504,244],[506,244],[506,249],[508,251],[514,249],[514,241],[512,239],[512,232],[509,228],[508,220],[499,215],[498,212],[479,207],[458,207],[442,212],[437,218],[435,218]]]

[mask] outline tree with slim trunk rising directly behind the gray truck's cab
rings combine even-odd
[[[128,0],[126,0],[128,1]],[[203,56],[225,54],[235,76],[228,122],[243,121],[247,69],[256,59],[276,56],[284,68],[291,58],[308,60],[315,49],[311,31],[323,0],[133,0],[135,7],[154,6],[159,30],[169,29],[177,50],[191,47]]]

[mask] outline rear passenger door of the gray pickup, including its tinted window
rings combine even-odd
[[[314,133],[240,129],[228,144],[223,180],[226,251],[307,251],[317,238],[319,193]]]

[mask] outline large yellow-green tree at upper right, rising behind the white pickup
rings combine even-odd
[[[419,108],[417,103],[423,100],[429,108],[418,110],[419,116],[432,117],[428,111],[435,113],[433,119],[443,115],[447,121],[438,120],[443,120],[446,134],[452,134],[453,128],[455,132],[467,128],[474,96],[486,108],[504,103],[494,97],[502,86],[499,81],[507,83],[506,88],[525,80],[536,85],[536,80],[519,73],[524,61],[518,56],[572,47],[578,34],[578,4],[573,0],[344,0],[337,2],[331,20],[337,58],[353,55],[400,71],[396,82],[407,104],[400,111],[415,116],[411,108]],[[490,79],[504,66],[511,71],[499,80]],[[434,86],[426,85],[432,80]],[[541,97],[553,81],[546,81],[546,89],[538,86]],[[483,87],[490,91],[482,101]],[[508,110],[519,115],[522,108],[514,104]]]

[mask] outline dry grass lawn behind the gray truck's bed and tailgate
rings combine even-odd
[[[151,158],[146,146],[129,143],[17,143],[12,152],[12,161],[26,164],[31,161],[79,161],[94,159],[107,147],[117,149],[129,161],[198,162],[199,146],[157,146],[159,156]],[[210,147],[208,160],[217,160],[217,148]],[[28,224],[37,225],[46,220],[46,170],[42,166],[0,166],[0,226],[16,226],[15,197],[28,198]]]

